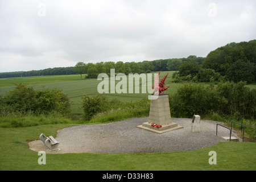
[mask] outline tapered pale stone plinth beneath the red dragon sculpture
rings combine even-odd
[[[171,130],[181,129],[183,126],[178,126],[177,123],[171,122],[171,112],[169,105],[168,94],[163,94],[159,96],[152,96],[150,103],[150,114],[148,117],[148,122],[142,123],[137,127],[153,131],[155,133],[164,133]],[[151,126],[152,124],[161,125],[162,127]]]

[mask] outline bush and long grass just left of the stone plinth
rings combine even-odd
[[[122,102],[117,98],[108,100],[105,95],[84,96],[82,98],[84,119],[90,122],[119,121],[120,119],[146,117],[150,100],[143,98],[135,102]]]

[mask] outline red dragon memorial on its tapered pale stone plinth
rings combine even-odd
[[[151,96],[148,122],[144,122],[142,125],[137,126],[140,129],[153,131],[159,134],[183,128],[183,126],[178,126],[177,123],[173,123],[171,121],[169,97],[168,94],[163,93],[163,91],[169,88],[169,86],[164,86],[164,81],[166,80],[168,73],[163,79],[160,80],[159,83],[158,79],[160,72],[155,78],[156,88]]]

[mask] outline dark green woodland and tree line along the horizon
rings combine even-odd
[[[214,82],[214,81],[256,81],[256,40],[229,43],[211,51],[207,57],[195,55],[187,58],[160,59],[153,61],[118,61],[84,63],[75,67],[48,68],[39,71],[0,73],[0,78],[86,74],[86,78],[97,78],[100,73],[150,73],[154,71],[177,71],[173,75],[175,82]]]

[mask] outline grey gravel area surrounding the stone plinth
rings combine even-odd
[[[31,150],[45,151],[47,154],[65,153],[150,153],[189,151],[213,146],[225,141],[222,137],[229,136],[229,130],[218,127],[216,136],[215,121],[200,120],[200,132],[192,132],[192,119],[171,118],[172,122],[183,126],[183,129],[158,134],[137,128],[148,117],[133,118],[124,121],[97,125],[77,125],[58,131],[56,140],[59,149],[49,151],[41,140],[28,142]],[[40,135],[40,134],[39,134]],[[49,137],[49,136],[47,136]]]

